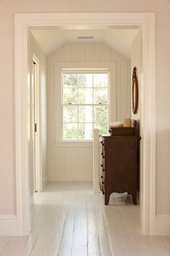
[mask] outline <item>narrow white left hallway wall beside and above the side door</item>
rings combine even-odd
[[[42,187],[48,180],[47,172],[47,88],[46,88],[46,56],[35,38],[30,35],[30,64],[32,54],[40,61],[40,162],[42,168]],[[33,168],[32,168],[33,169]],[[32,180],[33,182],[33,180]],[[33,185],[33,183],[32,183]]]

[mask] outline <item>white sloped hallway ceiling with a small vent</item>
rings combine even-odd
[[[130,46],[138,34],[138,29],[33,29],[32,35],[39,43],[42,51],[48,56],[66,43],[105,43],[120,54],[130,58]],[[78,39],[78,37],[93,36],[93,39]]]

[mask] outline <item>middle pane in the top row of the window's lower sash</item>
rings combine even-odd
[[[92,122],[93,121],[93,107],[79,106],[79,121]]]

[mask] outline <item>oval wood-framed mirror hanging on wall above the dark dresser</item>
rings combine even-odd
[[[133,114],[138,111],[138,79],[136,76],[136,67],[133,68],[133,80],[132,80],[132,93],[133,93]]]

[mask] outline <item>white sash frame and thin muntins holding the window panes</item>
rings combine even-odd
[[[75,123],[78,125],[78,138],[77,139],[64,139],[63,137],[63,129],[64,129],[64,124],[68,123],[70,124],[71,122],[64,122],[63,121],[63,106],[70,106],[69,104],[64,104],[63,103],[63,74],[107,74],[108,75],[108,86],[107,86],[107,103],[106,104],[95,104],[95,103],[91,103],[91,104],[79,104],[79,103],[73,103],[71,104],[71,106],[77,106],[78,107],[78,121],[75,121]],[[93,90],[93,95],[94,95],[94,87],[91,88]],[[101,89],[101,88],[100,88]],[[106,88],[103,88],[106,89]],[[93,141],[93,139],[79,139],[79,124],[81,124],[81,122],[79,122],[79,106],[92,106],[93,107],[93,114],[94,114],[94,106],[107,106],[107,124],[109,123],[109,69],[61,69],[61,106],[62,106],[62,130],[61,130],[61,139],[64,142],[91,142]],[[86,123],[86,122],[85,122]],[[90,123],[92,123],[93,125],[93,129],[94,129],[94,115],[93,115],[93,121],[91,121]],[[102,123],[102,122],[101,122]]]

